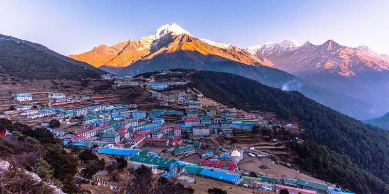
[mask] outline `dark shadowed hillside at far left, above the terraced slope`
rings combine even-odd
[[[106,73],[42,45],[2,34],[0,71],[29,79],[80,79]]]

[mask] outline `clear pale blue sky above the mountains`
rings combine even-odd
[[[61,54],[154,34],[177,23],[198,38],[246,48],[292,38],[367,45],[389,54],[388,0],[0,0],[0,33]]]

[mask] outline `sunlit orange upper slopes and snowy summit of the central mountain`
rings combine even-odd
[[[111,73],[117,73],[118,70],[114,68],[122,68],[127,65],[132,65],[137,61],[147,60],[153,56],[160,54],[163,50],[172,48],[164,48],[168,43],[173,40],[177,40],[177,36],[186,34],[187,37],[194,38],[190,32],[182,29],[177,24],[166,24],[161,26],[155,34],[142,37],[139,41],[127,40],[122,41],[111,47],[106,45],[99,45],[92,50],[77,54],[70,55],[70,58],[86,62],[95,67],[100,67],[111,71]],[[212,45],[212,43],[214,45]],[[219,46],[219,47],[215,47]],[[185,47],[176,48],[176,50],[188,50],[199,51],[203,55],[215,56],[209,60],[220,61],[221,58],[228,60],[238,61],[249,65],[270,65],[270,63],[262,58],[252,56],[243,49],[238,49],[232,45],[215,43],[211,40],[198,40],[195,38],[195,42],[187,44]],[[195,57],[195,56],[192,56]],[[201,65],[199,59],[197,63]]]

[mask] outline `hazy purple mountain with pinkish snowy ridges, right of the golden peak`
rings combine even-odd
[[[351,48],[333,40],[298,46],[287,39],[247,50],[269,60],[275,68],[371,104],[372,115],[389,110],[389,58],[366,46]]]

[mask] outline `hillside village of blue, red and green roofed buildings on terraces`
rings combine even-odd
[[[188,87],[179,71],[137,78],[106,74],[84,85],[53,81],[39,92],[41,86],[20,81],[15,89],[7,81],[13,82],[3,80],[0,117],[47,128],[66,148],[122,157],[130,167],[144,165],[188,185],[207,178],[257,191],[351,194],[301,173],[283,160],[288,153],[281,140],[254,131],[300,131],[298,123],[220,104]]]

